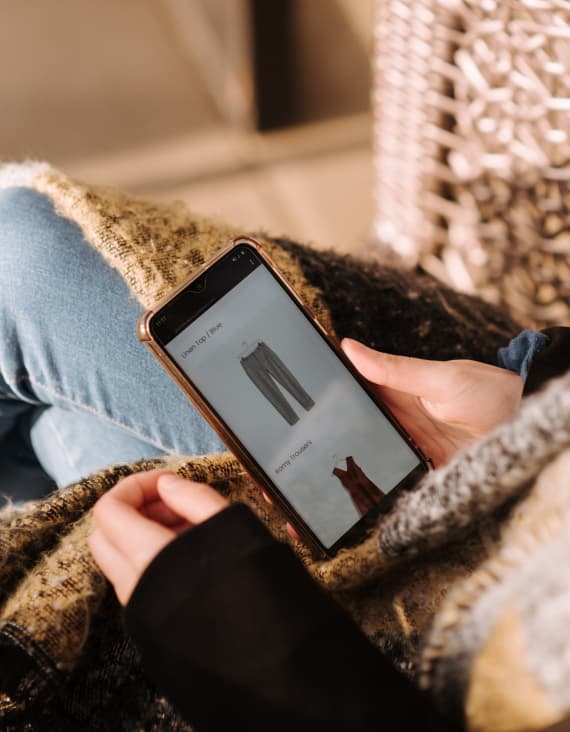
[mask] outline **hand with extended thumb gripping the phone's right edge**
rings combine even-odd
[[[342,349],[436,467],[517,411],[520,376],[478,361],[393,356],[345,338]]]

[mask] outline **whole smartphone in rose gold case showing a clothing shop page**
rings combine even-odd
[[[361,539],[429,469],[249,237],[144,313],[138,334],[321,556]]]

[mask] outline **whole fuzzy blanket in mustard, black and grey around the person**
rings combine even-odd
[[[44,164],[0,168],[0,186],[49,196],[147,307],[245,233]],[[338,337],[392,353],[494,363],[497,348],[518,332],[505,313],[421,271],[253,234]],[[428,475],[361,545],[325,562],[293,545],[372,641],[469,730],[535,730],[570,712],[569,448],[565,376]],[[123,476],[164,466],[247,502],[290,541],[229,454],[102,466],[43,500],[4,509],[1,729],[188,729],[145,679],[86,544],[97,498]]]

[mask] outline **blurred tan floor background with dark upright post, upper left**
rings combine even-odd
[[[3,0],[0,159],[358,250],[373,0]]]

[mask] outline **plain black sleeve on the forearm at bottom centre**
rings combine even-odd
[[[196,730],[450,729],[243,505],[168,545],[126,621]]]

